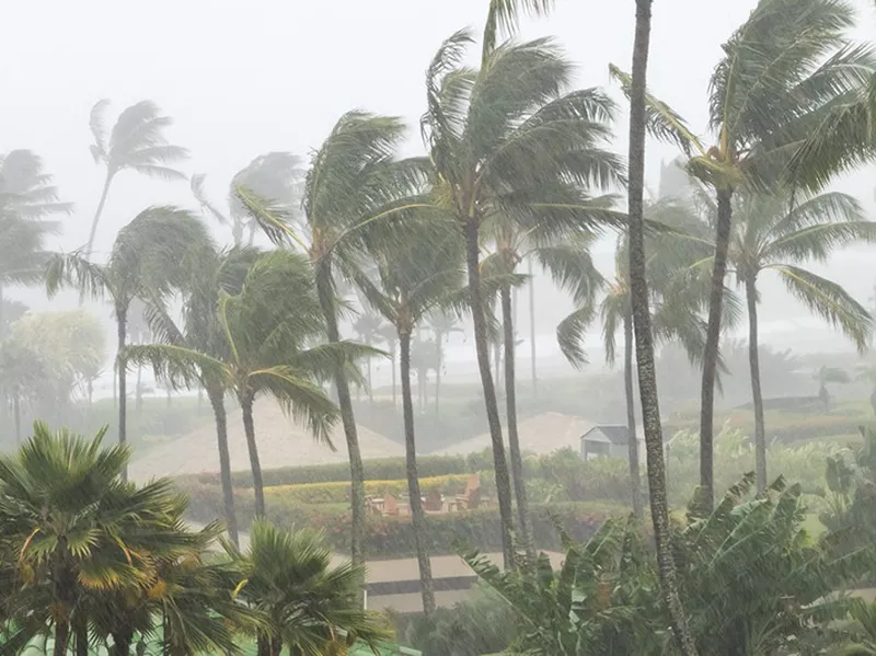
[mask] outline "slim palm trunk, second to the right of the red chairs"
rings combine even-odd
[[[517,373],[515,370],[514,308],[511,288],[502,288],[502,323],[505,338],[505,414],[508,422],[508,448],[511,452],[514,495],[517,498],[517,531],[527,553],[534,555],[535,545],[529,530],[529,500],[523,480],[523,457],[517,434]]]

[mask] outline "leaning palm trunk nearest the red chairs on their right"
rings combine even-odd
[[[474,346],[477,353],[477,368],[481,372],[481,384],[484,389],[484,405],[489,425],[489,439],[493,446],[493,467],[496,471],[496,498],[502,520],[502,552],[505,567],[514,566],[514,511],[511,509],[511,481],[508,475],[508,463],[505,459],[505,444],[502,440],[502,422],[493,384],[493,372],[489,370],[489,343],[484,301],[481,297],[481,267],[477,219],[470,217],[465,226],[465,258],[469,273],[469,297],[474,326]]]

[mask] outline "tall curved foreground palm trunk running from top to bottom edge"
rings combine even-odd
[[[645,187],[645,95],[650,42],[652,0],[636,0],[636,26],[633,42],[633,80],[630,93],[630,287],[635,330],[638,389],[648,456],[648,492],[657,564],[660,583],[669,611],[672,632],[681,653],[696,654],[688,619],[678,592],[676,563],[669,543],[669,508],[666,498],[666,465],[660,426],[660,405],[657,376],[654,368],[654,337],[648,312],[648,281],[645,273],[645,221],[643,217]]]

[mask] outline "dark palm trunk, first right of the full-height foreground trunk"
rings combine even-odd
[[[703,352],[703,384],[700,403],[700,494],[702,511],[715,507],[714,435],[715,435],[715,376],[721,349],[721,318],[724,303],[724,276],[727,272],[727,251],[730,245],[733,220],[731,194],[717,192],[718,223],[715,235],[715,264],[712,268],[712,290],[708,298],[708,325]]]

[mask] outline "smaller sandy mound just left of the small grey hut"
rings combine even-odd
[[[577,451],[580,449],[581,435],[596,425],[595,422],[584,417],[545,412],[518,422],[517,433],[520,439],[520,449],[531,453],[551,453],[557,449],[568,447]],[[503,430],[503,438],[507,446],[507,430]],[[451,447],[446,447],[440,451],[436,451],[435,454],[464,456],[466,453],[477,453],[491,447],[489,434],[485,433]]]

